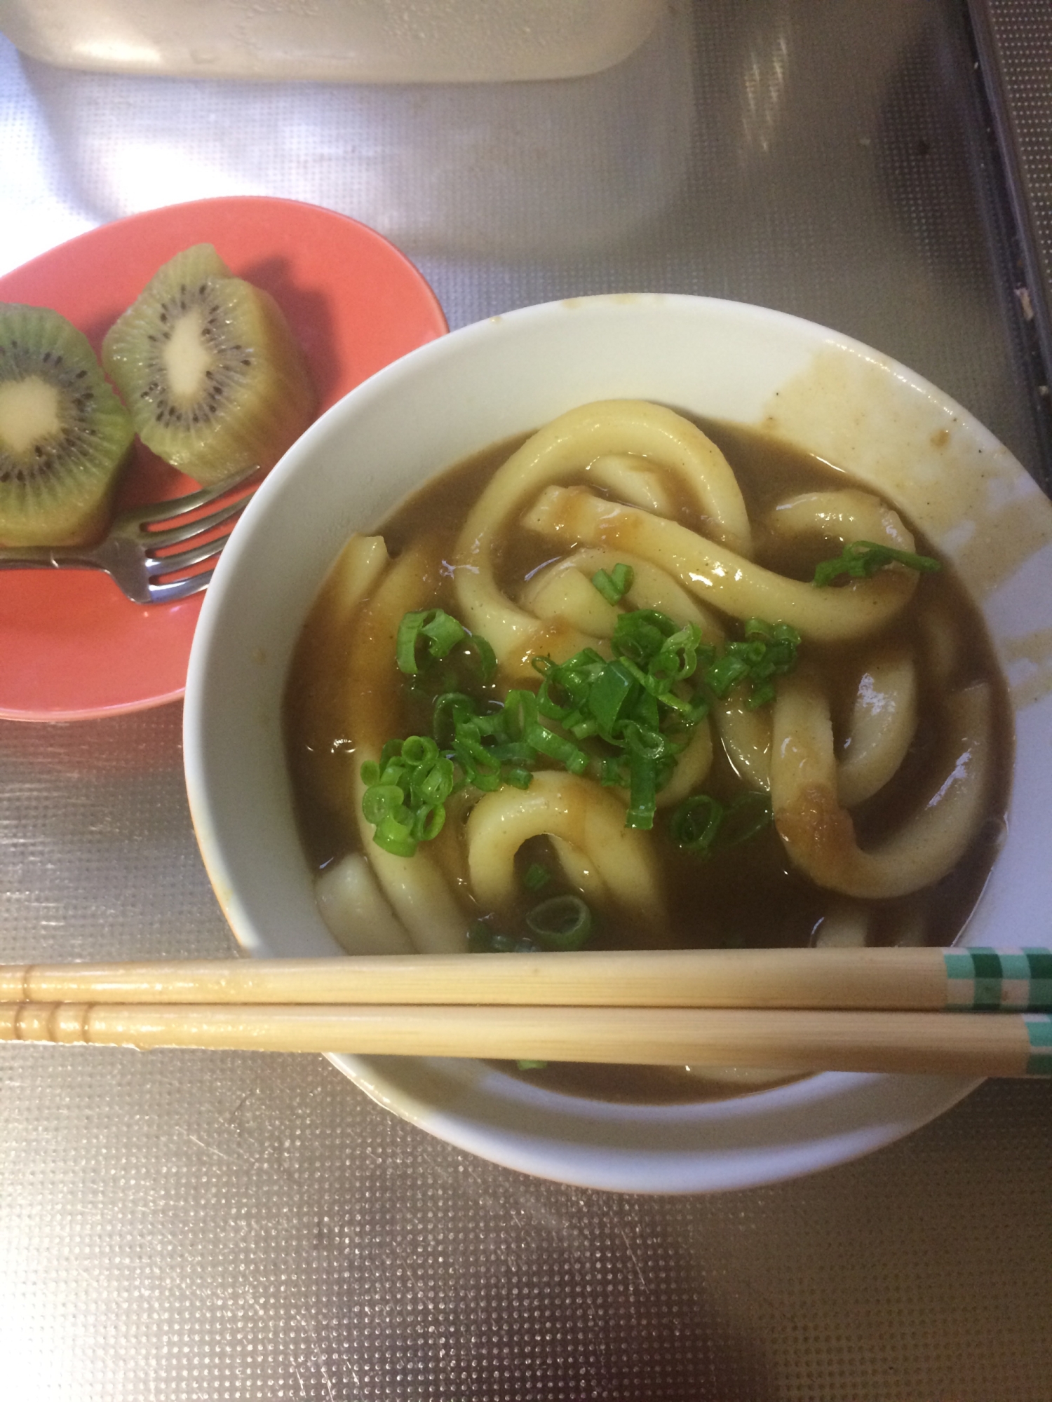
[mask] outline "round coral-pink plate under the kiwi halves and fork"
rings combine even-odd
[[[181,248],[210,243],[274,294],[327,409],[376,370],[446,331],[419,272],[365,224],[262,196],[151,209],[93,229],[0,278],[0,301],[53,307],[98,349],[116,317]],[[136,444],[128,506],[194,484]],[[182,695],[202,596],[133,604],[95,571],[0,573],[0,716],[73,721]]]

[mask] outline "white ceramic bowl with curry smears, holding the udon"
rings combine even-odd
[[[962,408],[822,327],[729,301],[607,296],[456,331],[353,390],[251,503],[209,587],[189,665],[185,763],[201,851],[254,955],[335,955],[292,813],[281,700],[341,545],[487,444],[599,398],[767,428],[872,484],[961,568],[997,642],[1017,726],[1007,841],[968,944],[1041,942],[1052,908],[1052,508]],[[717,1103],[624,1106],[478,1063],[334,1057],[382,1105],[484,1158],[565,1183],[704,1192],[839,1164],[975,1082],[816,1075]]]

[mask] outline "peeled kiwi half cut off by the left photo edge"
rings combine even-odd
[[[0,303],[0,545],[81,545],[109,519],[133,439],[87,336]]]

